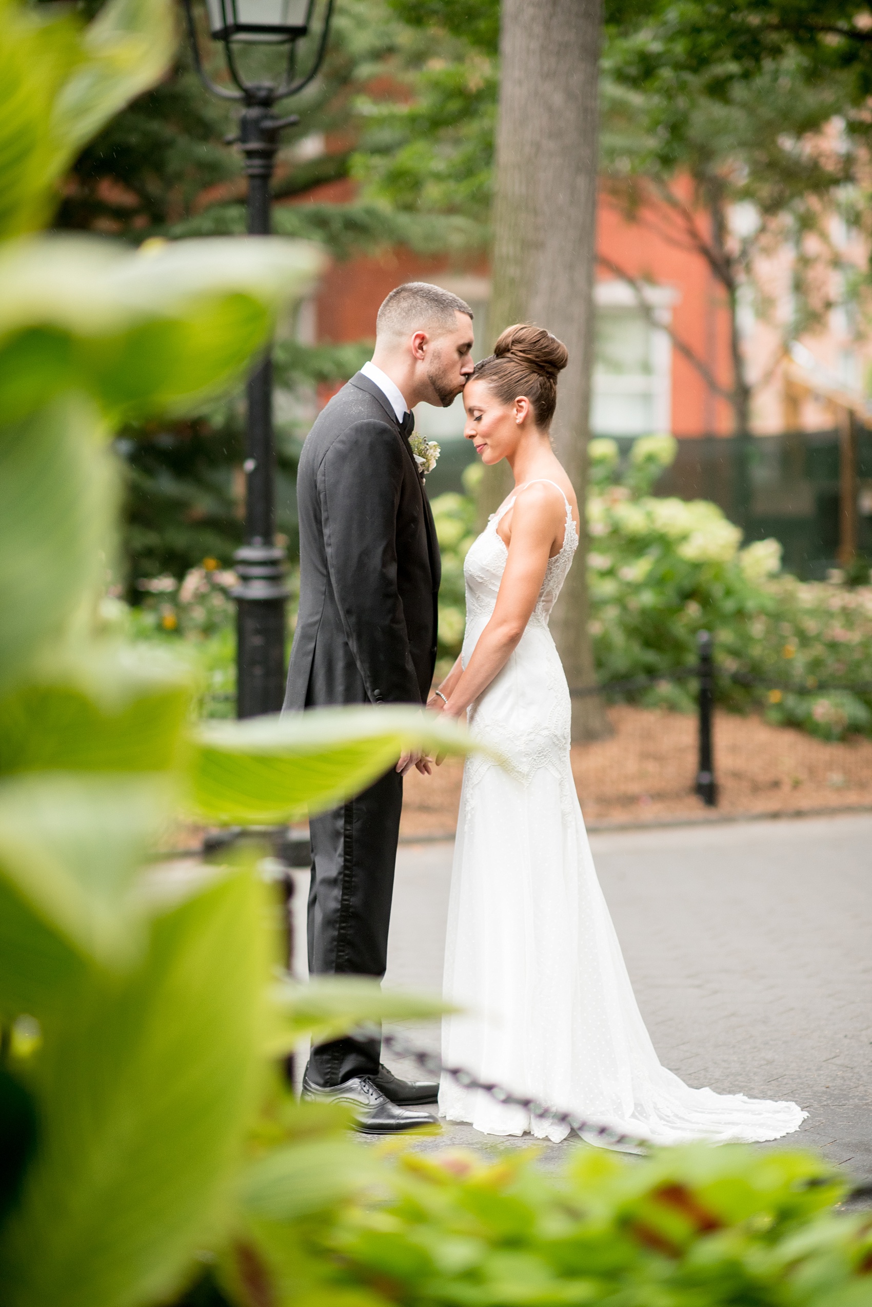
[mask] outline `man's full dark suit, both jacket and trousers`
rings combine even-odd
[[[379,387],[358,372],[317,417],[296,476],[300,609],[285,707],[422,703],[436,661],[439,546],[415,457]],[[390,769],[309,821],[309,972],[382,976],[402,776]],[[312,1050],[320,1085],[376,1076],[380,1040]]]

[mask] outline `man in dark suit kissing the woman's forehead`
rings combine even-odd
[[[296,478],[300,608],[285,710],[335,703],[426,703],[436,661],[440,559],[409,444],[411,409],[445,408],[473,371],[473,311],[414,281],[376,319],[376,352],[319,414]],[[403,754],[351,802],[312,818],[309,974],[381,976],[388,954],[402,778],[428,771]],[[304,1098],[355,1107],[358,1125],[390,1133],[431,1124],[411,1085],[381,1064],[380,1039],[312,1050]]]

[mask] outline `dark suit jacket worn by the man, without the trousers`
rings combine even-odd
[[[296,497],[300,608],[285,707],[426,702],[436,528],[409,440],[363,372],[316,418]]]

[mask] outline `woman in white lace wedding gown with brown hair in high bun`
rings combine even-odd
[[[795,1103],[689,1089],[661,1065],[603,898],[569,765],[569,691],[548,614],[578,545],[576,495],[548,426],[567,350],[509,327],[463,391],[465,435],[514,490],[466,555],[466,635],[429,707],[466,715],[510,759],[470,758],[452,874],[443,1061],[653,1144],[773,1140]],[[487,1134],[561,1140],[443,1076],[440,1114]]]

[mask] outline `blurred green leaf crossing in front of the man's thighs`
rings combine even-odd
[[[453,721],[413,707],[321,708],[213,721],[197,736],[192,800],[209,821],[275,823],[332,808],[406,749],[497,757]]]

